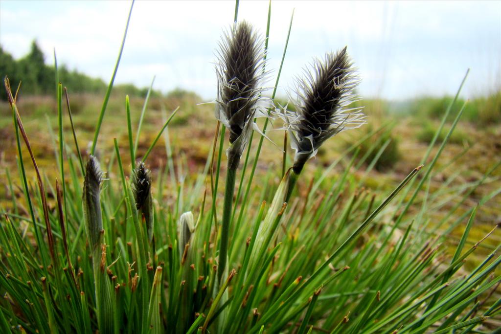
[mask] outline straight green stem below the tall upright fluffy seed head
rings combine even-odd
[[[221,280],[226,257],[228,255],[229,225],[231,224],[231,204],[235,190],[236,168],[228,168],[226,172],[226,187],[224,190],[224,206],[222,213],[221,241],[219,242],[219,265],[217,266],[217,278]]]

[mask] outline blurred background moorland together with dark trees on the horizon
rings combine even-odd
[[[57,147],[57,136],[54,133],[58,128],[54,66],[47,65],[51,62],[50,57],[43,54],[35,41],[30,53],[21,59],[14,59],[3,48],[0,50],[2,78],[9,76],[13,88],[17,87],[20,80],[23,81],[18,97],[21,117],[32,142],[39,167],[49,179],[54,180],[58,170],[57,154],[53,151],[53,148]],[[81,154],[85,156],[88,154],[87,144],[92,141],[94,135],[107,83],[76,70],[71,71],[63,64],[59,64],[58,73],[59,81],[68,88],[76,136],[80,143]],[[103,166],[108,163],[107,157],[113,156],[113,138],[118,139],[122,144],[122,149],[126,147],[125,95],[130,96],[132,123],[137,124],[147,92],[148,88],[138,88],[134,85],[114,86],[98,144],[98,153],[103,157]],[[12,196],[20,196],[21,192],[16,188],[11,191],[8,187],[8,178],[11,178],[14,184],[19,183],[16,137],[12,125],[12,111],[6,101],[5,89],[0,89],[0,97],[0,202],[2,204],[0,207],[4,210],[9,209],[6,205]],[[406,101],[362,97],[356,105],[364,107],[364,113],[368,117],[367,124],[354,131],[342,132],[326,142],[326,145],[322,146],[318,152],[315,161],[307,165],[309,169],[307,173],[313,176],[319,166],[327,167],[333,161],[340,159],[340,163],[331,172],[333,179],[342,175],[345,169],[351,166],[355,177],[363,178],[365,187],[369,191],[391,191],[410,170],[420,164],[452,100],[453,97],[450,96],[416,97]],[[167,173],[165,165],[167,156],[170,154],[175,161],[182,162],[184,169],[173,171],[179,175],[196,176],[197,172],[203,168],[209,150],[212,149],[216,121],[213,116],[213,105],[200,104],[202,102],[206,101],[203,101],[196,93],[182,89],[168,93],[151,92],[139,141],[138,157],[144,154],[156,137],[167,115],[179,106],[179,112],[170,123],[168,131],[149,156],[149,168],[153,170],[154,177],[158,177],[160,173]],[[433,150],[438,149],[464,102],[458,99],[452,106],[451,113],[444,128],[438,134]],[[284,106],[288,101],[278,98],[276,103]],[[294,108],[294,106],[289,104],[289,108]],[[63,128],[66,142],[70,145],[69,143],[72,142],[71,125],[66,106],[63,107],[63,111],[66,115]],[[261,122],[262,120],[259,120],[258,123],[262,125]],[[274,123],[274,128],[282,126],[278,124],[278,121],[272,123]],[[271,130],[267,135],[276,145],[265,141],[256,172],[258,177],[263,178],[263,182],[260,182],[257,187],[262,187],[264,191],[268,184],[273,185],[278,182],[278,180],[267,179],[267,173],[271,169],[276,169],[275,175],[280,175],[279,171],[282,168],[282,159],[277,157],[282,157],[278,147],[283,145],[284,132],[273,131],[273,128]],[[342,156],[344,149],[368,135],[370,137],[358,146],[359,152],[353,161],[351,161],[351,156]],[[167,138],[170,140],[170,146],[167,145]],[[254,141],[253,150],[256,149],[256,145],[257,141]],[[28,152],[25,153],[28,154]],[[123,153],[124,156],[127,155],[126,151]],[[292,152],[288,159],[291,156]],[[444,183],[448,185],[447,192],[439,194],[446,203],[443,206],[444,212],[455,205],[459,198],[458,194],[465,193],[468,185],[479,182],[484,173],[499,162],[500,157],[501,92],[472,98],[466,104],[462,118],[437,163],[437,169],[440,172],[431,179],[429,184],[430,191],[439,189]],[[367,163],[371,161],[375,161],[373,166]],[[327,180],[325,187],[329,187],[331,181]],[[307,188],[308,184],[299,186],[299,189]],[[468,200],[461,203],[457,215],[475,206],[483,196],[497,189],[501,189],[501,168],[499,167],[491,172],[480,187],[468,195]],[[166,201],[174,200],[173,195],[169,197],[168,189],[165,194]],[[500,197],[495,196],[479,208],[476,219],[477,228],[472,231],[472,240],[478,240],[501,220]],[[440,217],[435,218],[440,219]],[[460,237],[462,226],[459,226],[453,233],[455,236],[451,237],[452,241]],[[501,235],[498,235],[497,240],[500,239]]]

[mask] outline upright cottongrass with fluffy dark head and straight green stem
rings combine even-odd
[[[228,128],[230,144],[226,150],[228,168],[217,269],[221,279],[227,261],[236,169],[254,129],[254,118],[263,113],[259,102],[264,99],[261,86],[266,60],[264,39],[249,23],[235,23],[219,44],[217,55],[215,116]]]

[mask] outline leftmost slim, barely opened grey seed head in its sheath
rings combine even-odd
[[[99,244],[100,233],[103,229],[101,217],[101,203],[99,199],[100,185],[102,182],[102,173],[99,168],[99,162],[94,156],[89,156],[89,161],[85,167],[84,189],[83,189],[83,207],[85,218],[85,231],[87,239],[92,249]]]

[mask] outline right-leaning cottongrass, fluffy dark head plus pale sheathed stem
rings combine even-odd
[[[315,157],[327,139],[365,123],[362,107],[349,108],[358,99],[355,89],[360,79],[346,49],[327,53],[324,61],[317,59],[311,70],[305,69],[305,78],[297,79],[296,111],[278,109],[276,113],[285,121],[291,147],[296,153],[294,164],[283,177],[260,226],[258,250],[269,244],[306,162]]]

